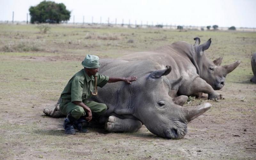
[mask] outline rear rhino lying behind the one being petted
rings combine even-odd
[[[171,65],[173,72],[167,78],[183,76],[182,85],[178,90],[172,91],[172,97],[204,92],[208,94],[208,99],[220,99],[220,94],[214,90],[220,90],[224,86],[227,74],[233,71],[240,61],[221,67],[222,57],[210,61],[204,53],[210,47],[211,39],[201,45],[198,37],[194,40],[196,40],[194,45],[179,41],[152,52],[137,52],[120,59],[128,61],[149,59],[162,65]]]

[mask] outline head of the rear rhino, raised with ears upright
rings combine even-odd
[[[200,77],[210,84],[214,90],[220,90],[225,85],[225,78],[227,74],[232,72],[241,61],[237,60],[230,65],[220,66],[222,57],[211,61],[205,56],[204,53],[204,51],[207,50],[211,45],[211,38],[201,45],[199,45],[200,39],[198,37],[194,38],[194,40],[196,41],[194,44],[194,49],[197,55],[196,61],[200,70]]]

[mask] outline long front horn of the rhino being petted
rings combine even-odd
[[[206,112],[208,109],[210,109],[212,105],[210,103],[204,103],[201,105],[198,105],[196,107],[186,107],[182,108],[184,116],[188,122],[192,121],[196,117],[202,115],[204,112]]]

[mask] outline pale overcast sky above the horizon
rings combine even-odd
[[[42,0],[0,0],[0,21],[27,20],[30,6]],[[255,27],[256,0],[54,0],[72,11],[69,22]]]

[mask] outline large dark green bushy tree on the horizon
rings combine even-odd
[[[60,23],[70,19],[70,11],[63,3],[42,1],[36,6],[29,8],[31,23]]]

